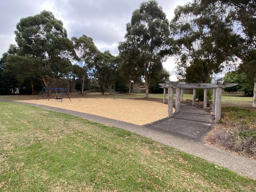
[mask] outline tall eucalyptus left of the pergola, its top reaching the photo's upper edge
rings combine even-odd
[[[148,97],[150,79],[162,69],[162,62],[166,59],[170,34],[168,26],[169,21],[162,7],[153,0],[141,3],[126,24],[125,41],[131,41],[132,49],[137,52],[132,60],[136,63],[134,70],[140,72],[145,81],[145,97]]]

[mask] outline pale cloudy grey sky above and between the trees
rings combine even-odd
[[[8,0],[1,1],[0,14],[0,57],[9,44],[15,44],[14,33],[20,18],[35,15],[43,10],[53,12],[62,20],[68,37],[85,34],[93,38],[100,51],[110,50],[118,54],[117,45],[124,39],[125,24],[130,21],[132,12],[143,0]],[[177,5],[188,0],[158,0],[168,20],[173,17]],[[173,73],[174,60],[169,58],[164,67]],[[172,74],[171,80],[176,80]]]

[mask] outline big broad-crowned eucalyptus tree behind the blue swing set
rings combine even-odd
[[[52,65],[72,52],[72,42],[63,23],[52,12],[42,11],[20,19],[14,33],[22,55],[28,55],[31,60],[25,68],[42,80],[45,87],[50,87]]]

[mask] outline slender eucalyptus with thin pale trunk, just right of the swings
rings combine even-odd
[[[72,37],[74,50],[75,50],[75,60],[76,64],[82,69],[82,92],[84,94],[84,80],[88,73],[91,72],[94,66],[94,59],[97,55],[97,47],[94,45],[91,37],[82,35],[81,37]]]

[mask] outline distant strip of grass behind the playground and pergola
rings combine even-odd
[[[166,94],[166,100],[168,100],[168,94]],[[132,98],[143,98],[145,96],[144,93],[131,93],[129,94],[104,94],[102,95],[100,92],[86,93],[84,96],[77,93],[71,93],[69,95],[71,98],[94,98],[94,97],[107,97],[107,98],[117,98],[117,99],[132,99]],[[0,99],[2,100],[30,100],[36,99],[38,95],[0,95]],[[158,98],[162,99],[164,97],[163,94],[158,93],[150,93],[149,98]],[[174,99],[176,95],[174,94]],[[41,97],[43,98],[43,96]],[[64,98],[66,96],[64,95]],[[184,94],[183,99],[192,99],[192,94]],[[222,95],[222,104],[224,106],[237,106],[237,107],[252,107],[252,97],[244,97],[242,95]]]

